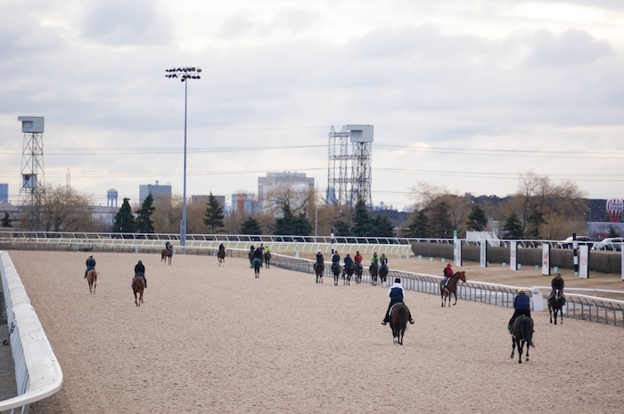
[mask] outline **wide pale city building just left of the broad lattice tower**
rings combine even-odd
[[[291,204],[301,204],[310,195],[314,194],[314,177],[307,177],[306,173],[267,173],[266,177],[258,177],[258,200],[260,212],[271,214],[271,196],[288,190],[291,193]],[[234,204],[234,203],[233,203]]]

